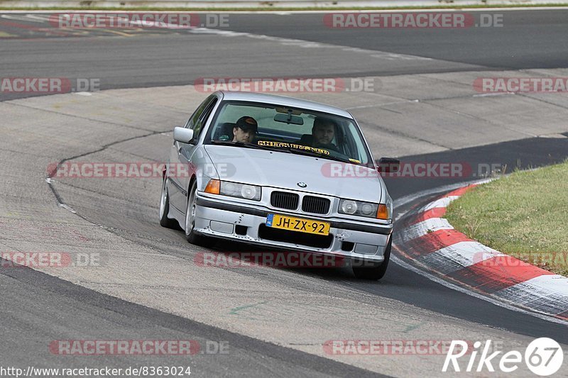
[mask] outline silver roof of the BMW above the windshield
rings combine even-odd
[[[223,94],[224,100],[229,101],[251,101],[260,102],[263,104],[274,104],[281,106],[290,106],[290,108],[309,109],[313,111],[321,111],[322,113],[331,113],[336,116],[342,116],[353,119],[349,111],[345,111],[335,106],[320,104],[315,101],[308,101],[302,99],[294,99],[286,96],[276,96],[274,94],[261,94],[254,92],[239,92],[239,91],[219,91]]]

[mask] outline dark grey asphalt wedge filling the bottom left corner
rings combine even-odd
[[[364,369],[132,304],[32,269],[1,268],[1,365],[190,367],[198,377],[379,377]],[[136,338],[134,338],[136,337]],[[54,355],[57,340],[190,340],[195,355]],[[224,345],[222,347],[221,345]],[[219,353],[225,348],[225,353]],[[188,377],[186,374],[180,374]]]

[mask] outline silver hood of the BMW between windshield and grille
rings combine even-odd
[[[381,201],[383,182],[371,168],[288,152],[224,145],[204,147],[222,180]],[[307,187],[298,186],[298,182]]]

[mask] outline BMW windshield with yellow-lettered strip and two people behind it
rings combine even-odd
[[[227,101],[213,122],[205,144],[268,148],[372,165],[361,130],[349,118],[307,109]]]

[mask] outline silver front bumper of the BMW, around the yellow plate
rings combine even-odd
[[[331,223],[329,238],[325,246],[306,245],[298,242],[294,236],[302,234],[304,239],[309,234],[286,231],[291,238],[288,241],[279,238],[274,240],[267,235],[266,217],[269,213],[309,218]],[[272,230],[272,229],[271,229]],[[393,224],[371,224],[346,222],[339,218],[320,218],[308,214],[290,213],[280,209],[262,209],[246,205],[219,201],[197,194],[195,209],[195,232],[215,238],[237,240],[244,243],[261,245],[302,252],[320,252],[326,255],[339,255],[349,259],[360,259],[371,262],[383,262],[384,252],[393,231]],[[317,236],[316,238],[322,238]]]

